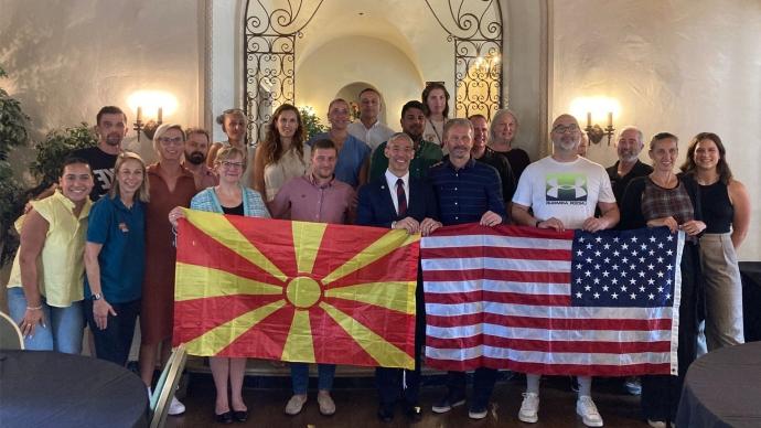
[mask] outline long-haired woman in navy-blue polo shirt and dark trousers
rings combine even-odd
[[[140,312],[146,254],[146,163],[125,151],[114,185],[93,205],[85,245],[85,315],[98,359],[125,365]]]

